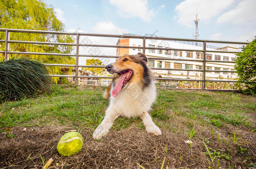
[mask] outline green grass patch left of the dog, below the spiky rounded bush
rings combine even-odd
[[[0,127],[20,124],[43,125],[49,122],[89,127],[99,124],[103,118],[107,101],[101,97],[101,93],[81,92],[76,91],[76,88],[65,92],[65,89],[60,87],[54,87],[52,91],[53,93],[38,98],[3,103],[0,107]],[[87,95],[94,96],[89,98]]]

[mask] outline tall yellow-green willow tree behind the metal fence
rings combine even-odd
[[[54,9],[51,6],[45,4],[42,0],[0,0],[0,28],[64,31],[65,27],[64,24],[56,18]],[[0,33],[0,39],[5,39],[5,33]],[[61,43],[74,42],[73,38],[69,35],[12,32],[10,33],[10,40]],[[1,43],[0,50],[4,50],[4,43]],[[71,53],[73,47],[60,45],[10,43],[9,50],[41,53]],[[9,57],[30,57],[35,58],[42,63],[75,63],[75,59],[69,56],[10,54]],[[3,60],[3,55],[0,56],[0,60]],[[50,73],[63,74],[67,68],[63,69],[59,67],[49,67],[48,70]],[[55,78],[55,82],[57,82],[57,78]]]

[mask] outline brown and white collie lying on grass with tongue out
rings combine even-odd
[[[149,114],[157,93],[154,74],[148,66],[146,55],[123,55],[115,63],[107,65],[106,69],[114,73],[112,82],[103,94],[110,103],[104,119],[94,130],[93,138],[105,136],[118,116],[140,117],[148,133],[161,135],[161,130]]]

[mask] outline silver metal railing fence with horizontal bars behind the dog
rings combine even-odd
[[[168,61],[197,61],[202,62],[202,70],[198,69],[178,69],[178,68],[152,68],[153,70],[168,70],[168,71],[200,71],[202,72],[202,79],[180,79],[180,78],[156,78],[156,80],[161,81],[191,81],[201,83],[201,89],[206,88],[206,82],[228,82],[233,83],[236,81],[223,81],[223,80],[207,80],[206,72],[235,72],[235,71],[217,71],[217,70],[206,70],[206,63],[215,62],[215,63],[235,63],[235,61],[213,61],[206,60],[206,52],[212,53],[238,53],[236,51],[220,51],[220,50],[206,50],[206,43],[229,43],[229,44],[243,44],[246,45],[248,42],[235,42],[235,41],[222,41],[222,40],[196,40],[196,39],[184,39],[184,38],[165,38],[165,37],[154,37],[154,36],[137,36],[137,35],[113,35],[113,34],[95,34],[95,33],[71,33],[71,32],[57,32],[57,31],[45,31],[45,30],[21,30],[21,29],[5,29],[0,28],[1,32],[5,32],[5,40],[0,40],[0,43],[5,43],[5,50],[0,51],[4,54],[5,60],[8,60],[9,54],[25,54],[25,55],[55,55],[55,56],[73,56],[76,57],[75,65],[67,64],[47,64],[45,66],[58,66],[58,67],[74,67],[75,70],[78,70],[79,67],[84,68],[104,68],[105,66],[91,66],[91,65],[78,65],[78,57],[96,57],[96,58],[118,58],[116,55],[84,55],[79,54],[80,46],[91,46],[91,47],[107,47],[107,48],[135,48],[142,49],[145,53],[146,49],[155,49],[155,50],[180,50],[180,51],[196,51],[203,52],[203,59],[178,59],[178,58],[158,58],[158,57],[148,57],[150,60],[168,60]],[[76,36],[76,43],[53,43],[53,42],[37,42],[37,41],[21,41],[21,40],[10,40],[10,32],[16,33],[40,33],[40,34],[52,34],[52,35],[74,35]],[[96,36],[96,37],[108,37],[108,38],[135,38],[142,39],[143,45],[139,46],[124,46],[124,45],[98,45],[98,44],[83,44],[79,43],[79,38],[81,36]],[[175,40],[175,41],[187,41],[187,42],[198,42],[203,43],[202,49],[180,49],[180,48],[151,48],[146,47],[146,39],[151,40]],[[69,45],[76,46],[76,54],[66,54],[66,53],[37,53],[37,52],[20,52],[20,51],[10,51],[10,43],[26,43],[26,44],[44,44],[44,45]],[[78,84],[78,78],[112,78],[110,76],[78,76],[78,71],[73,75],[50,75],[52,77],[66,77],[66,78],[75,78],[75,83]]]

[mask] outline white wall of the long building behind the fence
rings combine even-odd
[[[141,45],[143,44],[142,39],[131,39],[129,40],[129,46],[136,45]],[[146,40],[146,47],[149,47],[149,45],[155,45],[157,46],[162,46],[163,48],[178,48],[178,49],[199,49],[202,50],[203,48],[201,46],[196,46],[196,45],[189,45],[189,44],[184,44],[184,43],[178,43],[178,42],[173,42],[173,41],[166,41],[166,40]],[[206,48],[206,50],[214,50],[212,48]],[[216,50],[219,51],[219,53],[208,53],[212,55],[212,60],[215,60],[215,55],[220,55],[221,56],[221,61],[223,61],[223,57],[227,56],[229,58],[229,61],[231,61],[231,58],[235,58],[236,55],[234,53],[221,53],[221,50]],[[138,52],[143,52],[143,50],[135,49],[133,50],[132,48],[129,49],[129,54],[137,54]],[[182,63],[182,69],[185,69],[185,64],[191,64],[193,69],[196,69],[196,65],[202,66],[202,62],[197,62],[197,61],[163,61],[161,58],[180,58],[180,59],[196,59],[196,52],[193,52],[193,57],[188,58],[186,57],[186,51],[182,51],[182,57],[180,56],[175,56],[174,55],[174,50],[171,50],[171,55],[165,54],[165,50],[162,51],[162,54],[158,53],[157,50],[155,50],[154,53],[150,53],[149,50],[146,50],[145,54],[148,57],[159,57],[158,61],[162,61],[162,68],[165,68],[165,62],[170,62],[170,68],[174,68],[174,63]],[[228,68],[229,71],[231,69],[234,69],[234,63],[217,63],[217,62],[208,62],[206,63],[206,66],[212,67],[212,70],[214,70],[215,67],[220,68],[223,70],[223,68]],[[157,68],[157,61],[154,61],[154,67]],[[162,77],[168,77],[168,78],[185,78],[184,76],[195,76],[195,79],[201,78],[202,72],[192,72],[190,71],[188,74],[188,71],[159,71],[159,70],[154,70],[154,73],[161,74]],[[228,72],[225,74],[224,72],[206,72],[206,78],[208,79],[216,79],[216,78],[236,78],[236,75],[232,75],[234,73]]]

